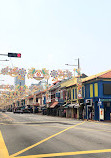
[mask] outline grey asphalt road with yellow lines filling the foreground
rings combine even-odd
[[[0,131],[0,158],[111,158],[111,123],[0,112]]]

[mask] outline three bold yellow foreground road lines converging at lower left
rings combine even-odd
[[[65,131],[67,131],[69,129],[72,129],[72,128],[76,127],[76,126],[79,126],[79,125],[81,125],[83,123],[84,122],[81,122],[81,123],[78,123],[78,124],[73,125],[71,127],[68,127],[66,129],[64,129],[64,130],[62,130],[62,131],[60,131],[60,132],[58,132],[58,133],[56,133],[56,134],[54,134],[52,136],[49,136],[49,137],[47,137],[47,138],[45,138],[45,139],[43,139],[43,140],[31,145],[31,146],[29,146],[29,147],[27,147],[27,148],[15,153],[15,154],[13,154],[13,155],[10,155],[10,156],[9,156],[7,147],[5,145],[4,139],[2,137],[2,133],[0,132],[0,158],[15,158],[15,157],[17,157],[17,158],[43,158],[43,157],[58,157],[58,156],[62,157],[62,156],[71,156],[71,155],[85,155],[85,154],[96,154],[96,153],[108,153],[108,152],[111,152],[111,149],[102,149],[102,150],[89,150],[89,151],[75,151],[75,152],[64,152],[64,153],[50,153],[50,154],[18,156],[18,155],[20,155],[20,154],[22,154],[22,153],[24,153],[24,152],[36,147],[36,146],[38,146],[38,145],[48,141],[49,139],[54,138],[57,135],[65,132]]]

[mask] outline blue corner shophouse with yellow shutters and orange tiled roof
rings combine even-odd
[[[86,77],[84,116],[86,119],[111,120],[111,70]]]

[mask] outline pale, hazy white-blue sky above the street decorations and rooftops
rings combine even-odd
[[[111,0],[0,0],[0,54],[8,52],[22,58],[0,69],[73,69],[65,64],[76,58],[87,75],[111,69]]]

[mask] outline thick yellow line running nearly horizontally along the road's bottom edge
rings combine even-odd
[[[75,152],[64,152],[64,153],[18,156],[17,158],[43,158],[43,157],[48,158],[48,157],[56,157],[56,156],[86,155],[86,154],[110,153],[110,152],[111,149],[103,149],[103,150],[89,150],[89,151],[75,151]]]

